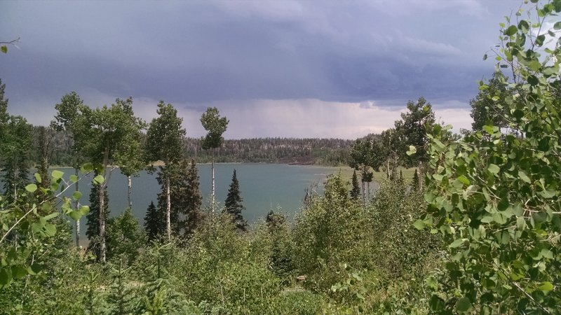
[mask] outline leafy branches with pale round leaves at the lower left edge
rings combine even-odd
[[[91,166],[84,166],[83,172],[91,172]],[[72,175],[65,180],[63,175],[55,170],[51,174],[50,187],[30,183],[25,186],[25,193],[20,193],[14,202],[0,200],[0,288],[8,286],[13,279],[41,271],[41,257],[48,251],[49,241],[57,232],[52,220],[60,214],[56,209],[58,205],[62,214],[73,219],[88,213],[88,206],[72,208],[72,200],[81,197],[79,192],[72,198],[65,197],[72,183],[80,179]],[[37,183],[43,180],[39,174],[34,177]]]

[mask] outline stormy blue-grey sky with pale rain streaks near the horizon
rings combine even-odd
[[[88,106],[133,97],[148,122],[171,103],[189,137],[209,106],[227,139],[356,139],[424,97],[469,128],[499,22],[516,0],[0,1],[8,111],[46,125],[76,91]]]

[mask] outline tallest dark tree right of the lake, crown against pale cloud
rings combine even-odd
[[[435,125],[434,112],[431,103],[426,102],[423,97],[419,97],[417,103],[407,102],[407,109],[409,111],[402,113],[401,120],[395,123],[396,132],[403,137],[400,153],[405,167],[419,167],[428,161],[426,134],[430,133]],[[407,146],[414,146],[417,154],[406,155]]]

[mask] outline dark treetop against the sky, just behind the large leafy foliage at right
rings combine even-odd
[[[473,118],[471,130],[482,130],[485,125],[494,125],[499,128],[506,127],[505,111],[508,105],[504,104],[511,91],[505,82],[508,80],[501,71],[495,71],[489,83],[480,85],[480,91],[475,99],[471,99],[470,116]]]

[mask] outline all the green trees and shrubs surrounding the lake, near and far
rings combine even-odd
[[[227,141],[214,107],[206,136],[186,139],[172,104],[147,123],[132,98],[92,108],[75,92],[50,126],[32,127],[9,114],[0,82],[0,313],[559,314],[561,0],[525,2],[500,24],[496,71],[461,134],[423,97],[393,128],[350,142]],[[49,170],[58,144],[69,172]],[[236,172],[224,206],[203,207],[196,162],[302,156],[346,163],[353,178],[329,176],[294,221],[271,211],[248,225]],[[143,227],[130,209],[109,218],[117,167],[157,174]],[[368,195],[375,172],[384,179]],[[86,248],[72,235],[84,219]]]

